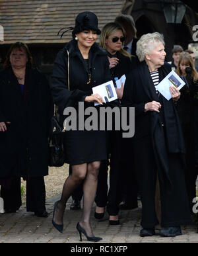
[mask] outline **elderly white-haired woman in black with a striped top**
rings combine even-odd
[[[155,234],[158,175],[162,216],[159,234],[174,237],[182,235],[181,225],[191,223],[183,173],[185,147],[174,105],[180,91],[170,87],[172,99],[167,101],[155,88],[171,71],[164,63],[164,40],[158,32],[140,38],[137,56],[140,64],[127,76],[123,105],[135,107],[133,155],[143,206],[140,235]]]

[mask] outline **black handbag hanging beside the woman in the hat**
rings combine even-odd
[[[49,131],[49,166],[61,167],[65,163],[65,153],[63,151],[64,132],[65,129],[61,128],[54,111]]]

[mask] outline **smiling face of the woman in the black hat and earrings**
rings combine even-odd
[[[79,48],[90,48],[96,42],[97,34],[93,30],[83,30],[76,34]]]

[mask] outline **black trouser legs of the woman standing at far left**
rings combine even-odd
[[[10,187],[1,187],[5,210],[18,210],[21,206],[20,177],[11,180]],[[46,210],[46,189],[44,177],[30,177],[26,181],[27,212]]]

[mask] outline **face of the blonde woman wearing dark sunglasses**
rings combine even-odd
[[[106,50],[110,52],[110,54],[116,54],[117,51],[121,50],[121,46],[123,42],[121,42],[123,38],[122,30],[116,30],[113,32],[108,38],[105,39]],[[112,40],[117,40],[117,42],[113,42]]]

